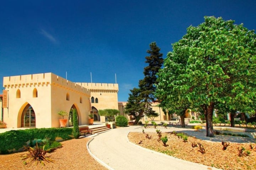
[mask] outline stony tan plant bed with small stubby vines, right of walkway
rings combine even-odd
[[[145,134],[152,136],[151,139],[146,138]],[[255,143],[231,143],[226,150],[223,150],[222,142],[208,142],[199,140],[195,137],[188,136],[187,142],[183,142],[182,138],[169,133],[162,133],[167,136],[166,146],[159,141],[156,132],[130,132],[129,141],[141,147],[161,152],[176,158],[187,160],[190,162],[203,164],[224,170],[246,170],[256,169],[256,144]],[[192,147],[192,143],[200,143],[203,145],[206,153],[202,154],[197,147]],[[252,147],[252,148],[251,148]],[[239,150],[244,148],[243,156],[239,156]],[[246,155],[246,153],[249,153]]]

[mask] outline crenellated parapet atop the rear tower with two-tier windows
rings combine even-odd
[[[89,89],[91,92],[118,92],[118,84],[111,83],[77,83],[86,89]]]

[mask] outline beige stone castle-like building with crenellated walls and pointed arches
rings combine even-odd
[[[90,113],[94,120],[105,122],[99,109],[118,109],[118,84],[73,83],[53,73],[4,77],[7,107],[1,120],[7,128],[59,127],[59,111],[70,113],[66,126],[73,126],[71,109],[78,111],[79,125],[88,125]]]

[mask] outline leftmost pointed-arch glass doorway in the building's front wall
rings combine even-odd
[[[21,127],[36,128],[36,114],[30,104],[27,104],[22,112]]]

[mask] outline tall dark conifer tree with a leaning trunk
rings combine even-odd
[[[139,80],[139,88],[130,90],[128,103],[124,109],[124,113],[132,115],[135,118],[134,124],[137,124],[143,114],[155,114],[151,109],[151,102],[155,101],[154,92],[156,90],[155,84],[157,83],[158,70],[162,67],[164,59],[160,48],[156,45],[156,42],[149,44],[150,50],[146,52],[150,56],[146,56],[145,63],[148,64],[144,68],[144,79]]]

